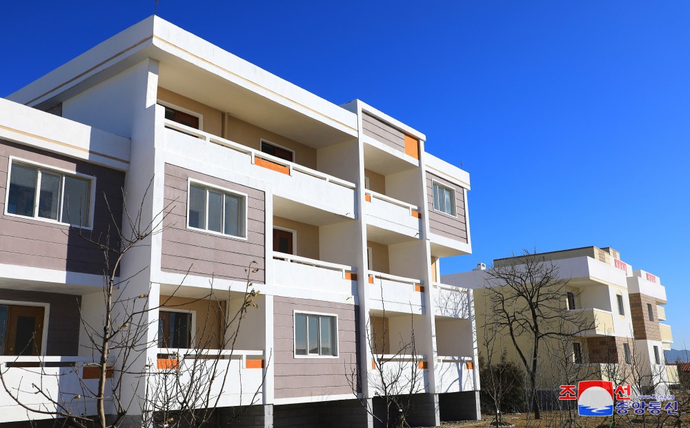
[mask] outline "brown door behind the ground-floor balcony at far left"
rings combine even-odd
[[[38,356],[43,343],[43,307],[10,306],[6,355]]]

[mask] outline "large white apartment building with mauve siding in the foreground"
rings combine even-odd
[[[119,293],[146,302],[141,341],[158,345],[119,379],[130,422],[157,373],[219,354],[227,381],[210,394],[221,421],[248,406],[238,426],[375,426],[357,396],[378,411],[382,359],[420,369],[411,424],[478,418],[472,291],[439,270],[471,253],[469,174],[425,140],[159,17],[0,99],[0,367],[28,403],[0,388],[0,426],[52,418],[26,385],[62,403],[95,387],[84,323],[103,322],[103,255],[79,232],[117,239],[123,206],[156,231],[119,269]],[[260,293],[228,349],[226,331],[204,332],[237,311],[248,276]],[[415,355],[401,353],[412,333]]]

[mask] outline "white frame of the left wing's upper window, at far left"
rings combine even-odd
[[[87,231],[92,231],[93,230],[93,220],[94,220],[94,211],[96,206],[96,177],[93,175],[86,175],[82,173],[77,173],[75,171],[70,171],[65,168],[58,168],[56,166],[50,166],[47,164],[42,164],[40,162],[34,162],[30,160],[23,159],[21,157],[16,157],[16,156],[10,156],[8,160],[8,169],[7,169],[7,182],[6,182],[6,192],[5,192],[5,212],[4,214],[7,215],[8,217],[16,217],[16,218],[23,218],[23,219],[31,219],[35,220],[37,222],[46,222],[46,223],[51,223],[51,224],[61,224],[63,226],[70,226],[70,227],[76,227],[76,228],[81,228],[85,229]],[[69,224],[68,222],[61,222],[59,220],[52,220],[51,218],[45,218],[45,217],[39,217],[37,211],[38,211],[38,206],[39,206],[39,198],[38,195],[34,197],[34,213],[32,217],[29,217],[28,215],[19,215],[19,214],[14,214],[8,212],[8,201],[10,200],[10,177],[12,177],[12,165],[14,164],[24,164],[33,168],[37,168],[39,171],[37,172],[37,186],[36,186],[36,192],[37,194],[41,191],[41,170],[45,170],[46,172],[50,173],[55,173],[59,175],[63,175],[62,177],[62,182],[60,184],[60,206],[58,208],[58,211],[60,213],[60,216],[62,216],[62,208],[63,208],[63,197],[64,197],[64,184],[65,184],[65,178],[64,175],[71,175],[72,177],[77,177],[80,179],[86,179],[90,182],[90,195],[89,195],[89,211],[90,213],[88,214],[88,220],[90,226],[81,226],[79,224]]]

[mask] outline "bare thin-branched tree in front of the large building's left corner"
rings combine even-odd
[[[133,412],[137,416],[141,414],[139,425],[142,427],[194,428],[208,422],[219,407],[220,392],[233,374],[230,373],[230,365],[224,364],[224,361],[234,357],[235,342],[242,320],[251,308],[258,307],[255,299],[259,291],[250,281],[250,275],[258,271],[253,266],[256,262],[245,269],[246,289],[244,293],[237,293],[242,297],[235,313],[228,313],[225,302],[218,298],[223,293],[229,297],[230,291],[214,290],[213,279],[210,280],[208,293],[186,301],[186,304],[206,302],[208,314],[221,314],[220,324],[216,325],[217,331],[211,332],[213,323],[204,320],[201,333],[198,334],[199,341],[193,349],[175,350],[172,352],[175,354],[174,358],[165,356],[170,361],[169,367],[157,367],[154,370],[155,362],[146,361],[146,355],[150,349],[158,349],[161,343],[158,335],[151,338],[150,331],[159,322],[152,318],[155,318],[153,315],[159,309],[175,307],[171,299],[181,289],[184,280],[170,293],[170,297],[162,302],[150,302],[149,293],[137,294],[132,286],[132,281],[148,266],[126,278],[119,276],[126,255],[147,246],[153,235],[162,233],[163,220],[174,204],[171,202],[161,213],[147,220],[144,201],[152,182],[153,180],[148,184],[136,212],[130,212],[127,204],[123,204],[125,227],[119,226],[120,222],[116,218],[118,210],[112,208],[106,195],[103,195],[110,213],[108,232],[96,236],[77,228],[79,237],[95,246],[103,255],[102,324],[87,318],[83,312],[80,313],[81,329],[88,338],[88,351],[92,353],[92,360],[97,362],[83,367],[75,365],[59,374],[49,373],[44,369],[47,364],[39,362],[41,382],[31,385],[12,384],[6,378],[10,367],[0,367],[3,389],[29,415],[43,414],[55,418],[56,424],[61,427],[116,428],[128,416],[132,416]],[[124,192],[123,200],[126,200]],[[148,290],[150,291],[150,286]],[[209,352],[208,349],[217,351]],[[17,365],[14,364],[15,367]],[[97,385],[87,380],[87,371],[89,379],[97,378]],[[78,391],[59,391],[57,396],[53,395],[49,386],[59,385],[61,379],[67,376],[77,378]],[[50,377],[53,379],[48,381]],[[249,405],[255,404],[263,380],[262,376],[259,389],[250,391],[249,402],[241,403],[235,417]],[[242,388],[242,382],[233,387]],[[137,392],[142,390],[144,393]],[[30,396],[40,397],[43,403],[34,404],[35,401],[27,400]]]

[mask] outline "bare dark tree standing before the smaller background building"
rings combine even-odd
[[[491,320],[497,334],[506,335],[522,363],[529,381],[529,402],[534,418],[541,416],[538,368],[544,358],[545,342],[573,342],[593,329],[593,321],[582,311],[566,307],[566,284],[569,278],[558,266],[542,255],[524,250],[486,270],[486,296],[495,318]]]

